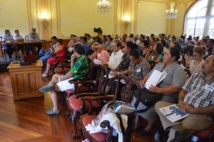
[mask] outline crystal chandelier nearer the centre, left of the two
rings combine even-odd
[[[108,0],[100,0],[97,3],[97,9],[100,13],[107,13],[111,9],[111,3]]]

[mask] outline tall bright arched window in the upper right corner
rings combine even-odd
[[[214,0],[198,0],[187,12],[184,33],[214,38]]]

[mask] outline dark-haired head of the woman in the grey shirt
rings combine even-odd
[[[169,48],[163,56],[163,62],[165,64],[171,64],[178,61],[180,58],[180,51],[177,48]]]

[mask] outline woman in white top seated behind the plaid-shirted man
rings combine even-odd
[[[197,46],[193,49],[193,58],[190,62],[190,72],[200,73],[202,70],[202,64],[204,63],[203,55],[205,54],[205,50],[201,46]]]

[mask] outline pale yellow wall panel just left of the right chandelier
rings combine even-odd
[[[166,32],[165,1],[140,0],[137,5],[137,33],[150,35]]]

